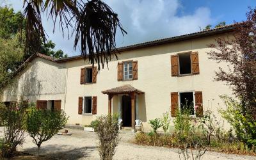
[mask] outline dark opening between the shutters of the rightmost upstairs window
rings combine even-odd
[[[179,54],[179,74],[191,74],[190,53]]]

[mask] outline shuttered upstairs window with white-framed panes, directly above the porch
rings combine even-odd
[[[138,79],[138,61],[119,62],[117,67],[117,81]]]

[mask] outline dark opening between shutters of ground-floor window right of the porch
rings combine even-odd
[[[194,93],[193,92],[184,92],[180,93],[180,109],[188,109],[190,115],[195,115],[194,110]]]

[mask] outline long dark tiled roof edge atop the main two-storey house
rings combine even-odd
[[[204,37],[204,36],[216,35],[216,34],[220,34],[220,33],[232,32],[232,31],[234,31],[234,29],[237,28],[237,24],[241,24],[241,23],[230,24],[227,26],[219,27],[219,28],[209,29],[209,30],[205,30],[205,31],[198,31],[195,33],[189,33],[186,35],[173,36],[170,38],[163,38],[163,39],[154,40],[154,41],[150,41],[150,42],[144,42],[141,44],[134,44],[134,45],[128,45],[125,47],[119,47],[118,51],[120,51],[120,52],[131,51],[132,49],[140,49],[143,47],[152,47],[155,45],[168,44],[168,43],[172,43],[172,42],[179,42],[182,40],[190,40],[193,38],[199,38],[199,37]],[[84,55],[72,56],[72,57],[68,57],[68,58],[61,58],[59,60],[56,60],[56,62],[61,63],[61,62],[65,62],[65,61],[79,60],[81,58],[84,58]]]

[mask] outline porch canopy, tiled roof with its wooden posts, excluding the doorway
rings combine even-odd
[[[108,95],[108,113],[111,114],[111,100],[114,95],[120,95],[120,94],[129,94],[131,97],[131,109],[132,109],[132,129],[134,129],[135,125],[135,95],[144,94],[144,92],[138,90],[137,88],[134,88],[130,84],[125,84],[124,86],[118,86],[116,88],[111,88],[109,90],[102,91],[103,94]]]

